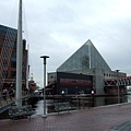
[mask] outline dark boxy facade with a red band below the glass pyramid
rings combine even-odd
[[[57,72],[56,94],[91,94],[93,90],[93,76]]]

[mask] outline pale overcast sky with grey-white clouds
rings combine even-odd
[[[0,0],[0,24],[16,28],[19,0]],[[111,70],[131,75],[131,0],[23,0],[31,73],[43,85],[43,60],[53,72],[87,39]]]

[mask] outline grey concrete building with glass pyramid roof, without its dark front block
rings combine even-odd
[[[80,49],[78,49],[57,69],[56,72],[48,73],[48,83],[53,83],[53,81],[57,82],[59,72],[83,74],[87,76],[92,75],[92,90],[98,95],[105,94],[104,79],[116,79],[118,76],[116,71],[111,71],[110,67],[91,40],[87,40]],[[119,76],[127,76],[127,74],[119,72]],[[58,88],[58,82],[56,83],[56,88]]]

